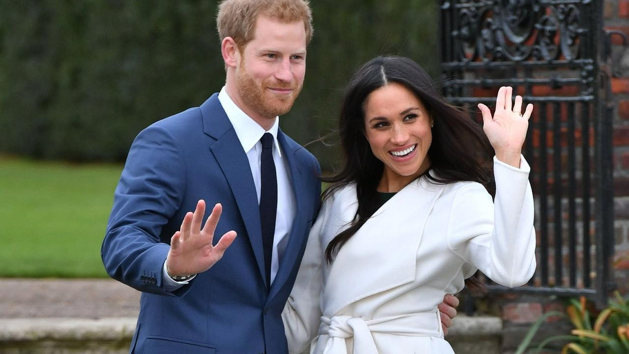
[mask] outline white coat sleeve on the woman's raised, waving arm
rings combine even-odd
[[[457,191],[448,221],[450,249],[506,287],[524,285],[535,272],[529,173],[524,157],[519,169],[494,157],[495,204],[482,185],[468,183]]]

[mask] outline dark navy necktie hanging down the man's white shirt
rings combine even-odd
[[[273,135],[262,135],[262,156],[260,161],[260,226],[262,226],[262,248],[264,249],[264,271],[267,276],[267,290],[271,283],[271,258],[273,236],[277,214],[277,176],[273,161]]]

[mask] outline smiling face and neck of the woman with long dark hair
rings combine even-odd
[[[399,191],[430,166],[431,118],[413,92],[397,83],[376,89],[365,101],[365,135],[382,163],[379,191]]]

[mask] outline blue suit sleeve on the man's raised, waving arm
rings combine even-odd
[[[175,214],[186,188],[184,158],[175,139],[152,125],[131,145],[114,193],[114,203],[101,247],[110,277],[137,290],[183,295],[189,286],[168,292],[162,266],[170,246],[160,241],[162,227]]]

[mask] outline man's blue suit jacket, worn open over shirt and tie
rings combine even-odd
[[[319,164],[279,131],[296,199],[296,217],[270,290],[255,185],[218,95],[201,107],[150,125],[136,137],[116,188],[101,248],[109,275],[142,291],[131,353],[281,354],[281,312],[319,207]],[[214,243],[238,233],[223,258],[174,293],[162,284],[170,237],[186,212],[206,200],[223,214]]]

